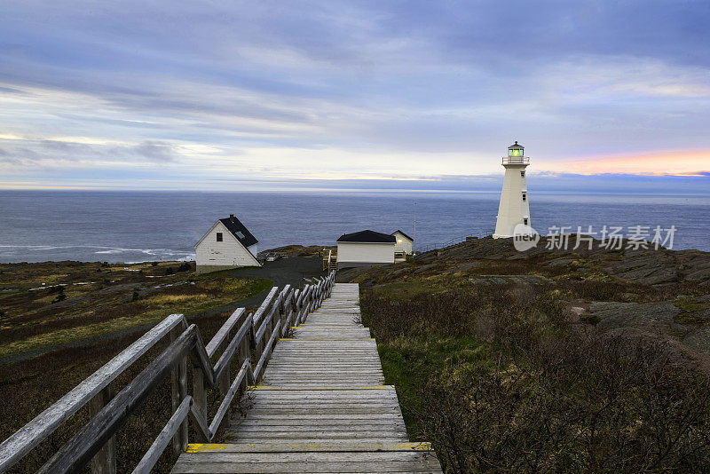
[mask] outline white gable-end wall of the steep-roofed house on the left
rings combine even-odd
[[[217,233],[222,233],[222,241],[217,241]],[[249,247],[256,250],[256,244]],[[254,255],[241,245],[221,222],[217,222],[212,230],[200,241],[194,249],[198,266],[258,266]]]

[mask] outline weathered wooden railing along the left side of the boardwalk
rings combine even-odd
[[[170,440],[176,453],[184,451],[188,419],[197,433],[197,441],[211,441],[227,418],[234,397],[248,385],[256,384],[264,374],[278,338],[319,308],[330,296],[334,280],[335,273],[330,273],[318,284],[303,289],[290,285],[281,290],[273,287],[256,312],[246,317],[244,308],[233,312],[207,345],[202,344],[194,324],[189,325],[182,314],[171,314],[0,444],[0,472],[10,469],[88,404],[89,422],[38,472],[75,472],[91,462],[94,473],[114,473],[116,431],[168,376],[172,379],[172,416],[133,472],[150,472]],[[170,345],[121,391],[114,393],[116,377],[165,336],[170,336]],[[213,365],[211,359],[224,346]],[[187,393],[188,359],[193,367],[192,394]],[[240,369],[231,381],[230,367],[234,360]],[[222,398],[211,423],[207,413],[209,390],[218,390]]]

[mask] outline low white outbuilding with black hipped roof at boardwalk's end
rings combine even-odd
[[[394,263],[394,235],[375,231],[345,233],[336,241],[338,269]]]

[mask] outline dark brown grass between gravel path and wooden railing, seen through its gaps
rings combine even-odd
[[[209,338],[216,333],[217,328],[224,324],[229,313],[219,313],[193,321],[197,324],[204,341],[209,341]],[[125,349],[138,336],[140,335],[116,337],[81,348],[67,347],[33,359],[2,366],[0,390],[3,391],[4,403],[0,404],[0,419],[3,420],[3,423],[0,423],[0,439],[5,439],[14,431],[19,430],[32,418],[39,415],[43,409],[49,407],[106,361]],[[157,344],[149,352],[146,352],[116,379],[116,391],[120,391],[167,346],[168,338],[164,339],[161,344]],[[48,370],[48,367],[51,367],[51,370]],[[188,381],[192,380],[191,370],[192,367],[188,364]],[[232,376],[235,373],[236,370],[233,367]],[[214,415],[218,401],[217,393],[210,391],[208,399],[210,416]],[[119,472],[130,472],[136,466],[170,415],[169,377],[143,402],[138,411],[131,415],[128,422],[118,431],[116,457]],[[88,409],[84,407],[9,472],[35,472],[38,470],[43,462],[56,453],[59,447],[71,438],[88,419]],[[137,436],[137,433],[140,433],[140,436]],[[191,434],[191,438],[194,439],[193,434]],[[170,472],[176,458],[170,447],[167,448],[154,472]]]

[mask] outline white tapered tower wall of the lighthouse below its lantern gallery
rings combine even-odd
[[[530,195],[527,193],[525,177],[520,176],[520,171],[525,171],[526,165],[505,164],[503,166],[505,166],[505,177],[493,238],[512,237],[513,229],[518,224],[524,224],[524,218],[527,218],[527,225],[532,226]],[[523,193],[526,194],[525,201],[523,201]]]

